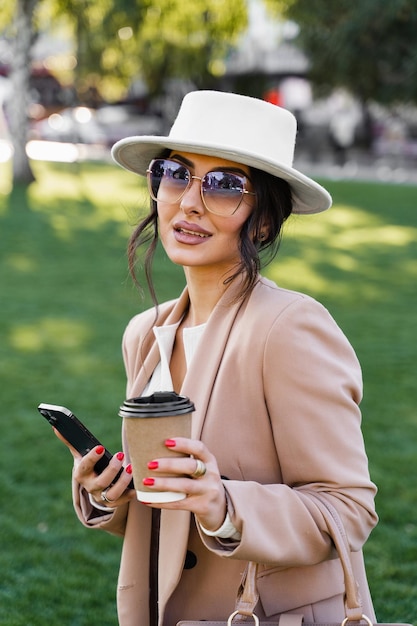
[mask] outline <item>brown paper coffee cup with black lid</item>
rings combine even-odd
[[[170,450],[167,453],[166,439],[191,436],[191,415],[194,404],[185,396],[174,391],[155,392],[125,400],[119,415],[123,418],[123,428],[129,449],[133,470],[133,483],[136,496],[142,502],[175,502],[186,497],[185,493],[155,491],[143,484],[146,477],[169,476],[161,472],[153,473],[148,468],[149,461],[169,456],[187,456]]]

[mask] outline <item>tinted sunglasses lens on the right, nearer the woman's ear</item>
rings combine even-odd
[[[239,206],[245,178],[233,172],[208,172],[202,181],[207,208],[220,215],[231,215]]]

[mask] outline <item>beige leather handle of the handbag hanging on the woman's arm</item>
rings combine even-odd
[[[335,545],[342,564],[346,594],[345,621],[360,621],[363,619],[362,602],[353,572],[349,542],[342,520],[335,507],[321,494],[314,494],[314,500],[325,519],[327,532]],[[254,615],[255,606],[259,600],[256,586],[257,570],[258,564],[254,561],[249,561],[239,586],[234,622],[244,621],[247,616]]]

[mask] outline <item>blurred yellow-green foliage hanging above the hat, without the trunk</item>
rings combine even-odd
[[[71,24],[77,91],[99,84],[106,99],[120,97],[134,78],[145,82],[151,97],[170,78],[210,85],[247,24],[245,0],[39,2],[44,30],[63,16]]]

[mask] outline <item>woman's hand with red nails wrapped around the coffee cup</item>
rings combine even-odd
[[[165,442],[166,458],[152,459],[148,467],[152,477],[145,478],[144,484],[158,491],[175,491],[187,494],[177,502],[152,503],[151,506],[163,509],[182,509],[191,511],[198,522],[209,531],[215,531],[223,524],[226,517],[226,493],[220,477],[216,457],[208,448],[196,439],[177,437]],[[169,457],[169,450],[182,452],[187,457]],[[201,461],[204,466],[201,466]],[[201,467],[206,471],[203,475],[193,477]],[[158,472],[173,474],[171,477],[158,477]],[[185,476],[184,476],[185,475]]]

